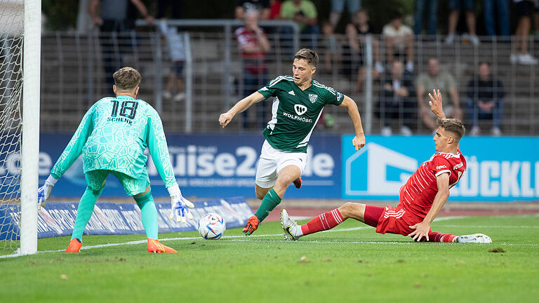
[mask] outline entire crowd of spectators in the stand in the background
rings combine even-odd
[[[157,21],[149,15],[140,0],[92,0],[89,11],[92,20],[101,32],[121,32],[134,25],[134,14],[128,7],[133,7],[146,18],[147,22],[158,22],[162,34],[166,37],[169,53],[173,60],[173,72],[164,90],[165,98],[181,101],[182,66],[185,58],[182,52],[182,39],[175,28],[167,27],[162,22],[165,11],[172,11],[171,18],[180,18],[182,1],[157,1]],[[110,2],[110,3],[109,3]],[[366,74],[364,50],[362,45],[370,37],[373,50],[373,79],[380,80],[380,100],[375,107],[376,116],[384,124],[382,134],[391,135],[390,121],[400,121],[400,133],[412,134],[412,121],[421,121],[427,128],[434,128],[434,117],[428,110],[430,89],[439,88],[444,97],[447,115],[458,119],[467,118],[472,123],[472,135],[479,135],[479,120],[491,121],[491,135],[501,135],[500,120],[503,116],[503,84],[493,76],[489,62],[481,62],[477,74],[472,76],[466,90],[465,111],[460,108],[458,85],[454,76],[442,69],[438,58],[430,58],[425,71],[415,69],[414,43],[418,35],[424,39],[437,39],[441,35],[443,43],[470,43],[479,46],[477,36],[475,0],[448,0],[447,10],[442,10],[438,0],[415,0],[413,20],[405,22],[397,8],[390,8],[390,20],[382,28],[376,28],[370,20],[369,11],[361,6],[361,0],[331,0],[331,12],[327,20],[321,20],[317,6],[311,0],[240,0],[234,8],[234,17],[244,22],[244,26],[235,29],[237,46],[243,63],[241,79],[242,94],[248,95],[262,86],[269,79],[267,72],[267,53],[272,46],[267,39],[265,29],[258,26],[260,20],[292,20],[298,24],[301,34],[317,35],[324,44],[317,48],[322,62],[321,70],[347,69],[354,74],[355,92],[361,92]],[[530,0],[484,0],[484,29],[488,36],[514,36],[514,48],[510,58],[512,64],[537,65],[538,59],[528,51],[528,35],[532,20],[535,32],[539,32],[539,1]],[[100,12],[97,6],[100,3]],[[125,4],[119,6],[118,3]],[[438,18],[441,11],[448,13],[447,32],[441,32]],[[338,32],[338,24],[343,13],[350,16],[350,22],[343,32]],[[131,16],[131,17],[130,17]],[[459,18],[465,19],[466,29],[460,31]],[[510,31],[510,18],[514,18],[514,31]],[[410,22],[411,21],[411,22]],[[278,29],[282,34],[291,34],[291,28]],[[509,39],[507,38],[507,41]],[[110,59],[112,52],[109,41],[103,39],[104,60]],[[303,46],[305,43],[302,43]],[[350,58],[342,58],[342,54]],[[173,55],[176,54],[176,55]],[[108,62],[111,63],[111,62]],[[116,62],[115,65],[121,65]],[[108,64],[108,69],[116,68]],[[105,74],[112,74],[106,72]],[[350,73],[349,73],[350,74]],[[110,81],[110,79],[108,79]],[[464,104],[464,102],[463,102]],[[269,109],[268,109],[269,110]],[[245,119],[246,121],[246,119]],[[264,116],[257,116],[262,124]],[[244,123],[244,127],[248,127]]]

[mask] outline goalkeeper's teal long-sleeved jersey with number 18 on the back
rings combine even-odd
[[[139,179],[147,175],[146,147],[165,187],[176,184],[163,124],[155,109],[124,95],[104,97],[88,109],[51,175],[59,179],[82,154],[84,173],[114,170]]]

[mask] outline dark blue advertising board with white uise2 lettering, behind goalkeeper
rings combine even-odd
[[[71,138],[70,134],[41,134],[39,184],[43,184],[56,159]],[[340,197],[340,136],[313,135],[307,150],[303,186],[286,191],[287,198]],[[167,135],[168,152],[176,180],[185,196],[204,198],[244,196],[255,198],[255,173],[264,137],[260,135]],[[12,156],[11,161],[18,161]],[[2,174],[18,174],[5,164]],[[168,196],[151,158],[147,171],[154,196]],[[51,198],[81,196],[86,188],[82,161],[77,160],[55,185]],[[2,188],[0,185],[0,192]],[[102,196],[124,196],[115,177],[109,175]]]

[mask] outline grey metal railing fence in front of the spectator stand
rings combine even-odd
[[[112,36],[114,51],[108,54],[102,49],[102,39],[105,37],[95,32],[88,35],[65,32],[44,34],[41,130],[72,132],[93,102],[112,94],[104,68],[104,56],[112,55],[113,61],[140,69],[144,78],[140,97],[158,109],[166,131],[219,132],[219,114],[241,100],[245,91],[259,88],[244,84],[241,54],[233,35],[233,29],[241,25],[241,22],[211,20],[215,25],[208,26],[222,28],[213,32],[201,32],[195,30],[202,26],[198,24],[199,21],[175,20],[169,24],[176,25],[176,21],[179,22],[178,26],[189,27],[189,31],[183,32],[186,58],[182,78],[186,90],[185,98],[181,100],[164,98],[168,76],[174,72],[175,66],[166,51],[166,41],[153,29],[142,28],[140,32]],[[265,24],[260,22],[260,25]],[[352,97],[364,117],[366,131],[380,132],[385,122],[376,115],[377,111],[380,112],[378,102],[385,97],[383,86],[390,79],[390,65],[387,64],[383,37],[371,36],[371,42],[363,39],[360,49],[354,50],[344,35],[285,36],[278,30],[270,29],[267,32],[272,46],[265,58],[268,78],[291,74],[293,52],[300,46],[310,46],[320,56],[314,79]],[[379,50],[372,48],[374,40],[378,41]],[[536,43],[530,39],[528,48],[531,53],[534,53]],[[455,78],[460,107],[465,112],[463,119],[470,129],[472,124],[466,107],[467,83],[477,74],[479,62],[486,61],[505,89],[500,123],[503,135],[538,135],[539,121],[535,121],[535,116],[539,114],[535,97],[538,68],[535,65],[512,64],[512,48],[512,41],[498,41],[491,37],[481,39],[479,46],[465,40],[446,45],[437,36],[416,37],[411,76],[415,81],[419,74],[427,70],[428,59],[438,58],[442,69]],[[380,60],[384,72],[375,69],[377,60]],[[415,93],[412,92],[410,98],[411,102],[417,102]],[[450,100],[444,101],[445,104],[450,103]],[[269,102],[267,100],[262,103]],[[411,111],[413,133],[430,133],[431,130],[422,123],[417,107]],[[270,106],[257,104],[246,114],[235,118],[237,121],[229,128],[240,132],[258,132],[263,124],[260,121],[267,120],[269,116]],[[320,128],[326,132],[349,133],[353,130],[347,112],[338,107],[326,107],[325,119],[321,120]],[[392,119],[390,126],[395,130],[403,123],[403,118],[397,116]],[[488,134],[488,129],[485,128],[484,133]]]

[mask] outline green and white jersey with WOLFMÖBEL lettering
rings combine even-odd
[[[275,97],[264,137],[272,147],[291,152],[307,152],[324,106],[340,105],[344,99],[342,93],[314,80],[309,88],[301,90],[292,76],[278,76],[258,92],[265,98]]]

